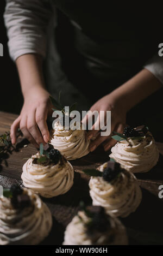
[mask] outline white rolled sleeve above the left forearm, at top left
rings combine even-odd
[[[11,58],[26,53],[46,55],[46,31],[51,10],[47,0],[7,0],[4,12]]]

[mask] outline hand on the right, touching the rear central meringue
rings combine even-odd
[[[120,104],[121,102],[121,104]],[[103,110],[105,111],[104,115],[104,121],[106,124],[106,111],[111,110],[111,132],[114,130],[118,133],[123,133],[124,125],[126,124],[126,110],[123,108],[123,102],[120,99],[116,99],[112,96],[112,94],[108,94],[105,97],[101,98],[96,102],[90,109],[91,111],[97,110],[98,112]],[[100,112],[99,112],[100,116]],[[83,123],[87,122],[88,116],[85,116],[82,120]],[[99,122],[96,121],[95,124],[93,124],[91,130],[87,133],[87,138],[96,138],[93,140],[90,144],[90,151],[94,151],[100,144],[103,143],[104,150],[108,151],[112,146],[116,144],[116,140],[111,138],[111,135],[109,136],[101,136],[99,134],[99,130],[95,130],[95,126]]]

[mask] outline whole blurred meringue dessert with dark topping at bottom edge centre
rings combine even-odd
[[[79,211],[65,231],[63,245],[128,245],[126,229],[102,207]]]

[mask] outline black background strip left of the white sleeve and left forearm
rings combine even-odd
[[[0,57],[0,111],[7,111],[18,114],[23,104],[23,98],[16,66],[9,57],[8,52],[8,38],[3,20],[5,1],[1,0],[0,4],[0,43],[3,44],[3,57]]]

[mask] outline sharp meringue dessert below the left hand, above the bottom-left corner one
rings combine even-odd
[[[72,187],[74,170],[65,157],[52,148],[41,156],[36,153],[29,158],[23,165],[21,177],[24,187],[52,198],[65,194]]]

